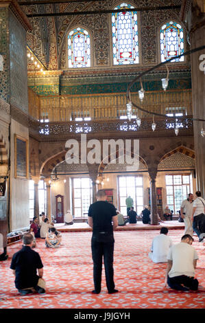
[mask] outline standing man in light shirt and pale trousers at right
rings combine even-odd
[[[190,234],[193,236],[193,227],[192,227],[192,210],[193,210],[193,194],[189,193],[188,199],[182,201],[180,208],[182,219],[184,219],[184,234]]]

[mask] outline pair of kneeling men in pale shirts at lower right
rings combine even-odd
[[[171,289],[180,291],[197,291],[199,282],[194,276],[198,256],[195,248],[191,246],[192,236],[184,234],[181,242],[173,245],[167,234],[167,227],[162,227],[160,234],[152,241],[149,258],[154,263],[167,263],[165,287],[169,285]]]

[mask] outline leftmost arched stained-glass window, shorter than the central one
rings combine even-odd
[[[69,68],[91,67],[91,37],[81,27],[69,32],[68,60]]]

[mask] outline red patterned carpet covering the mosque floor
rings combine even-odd
[[[105,276],[102,291],[93,295],[91,232],[63,232],[60,249],[47,249],[37,239],[44,265],[47,293],[20,296],[14,287],[10,262],[21,243],[8,246],[9,258],[0,263],[0,309],[204,309],[205,243],[195,242],[200,260],[196,277],[198,291],[180,292],[165,288],[166,264],[154,264],[147,256],[152,238],[159,230],[114,233],[114,281],[119,293],[109,295]],[[180,242],[184,230],[169,230],[173,243]]]

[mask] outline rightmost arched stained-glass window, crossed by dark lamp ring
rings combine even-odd
[[[174,56],[184,53],[184,32],[179,23],[169,21],[160,29],[160,55],[161,61],[169,60]],[[183,62],[184,56],[171,60],[171,62]]]

